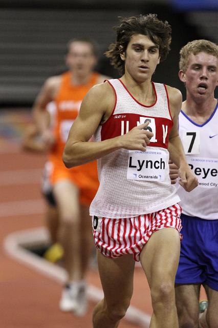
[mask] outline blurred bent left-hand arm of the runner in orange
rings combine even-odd
[[[53,76],[46,80],[42,86],[35,103],[33,105],[33,117],[37,130],[41,134],[42,139],[49,144],[53,143],[53,134],[49,129],[48,113],[46,106],[50,101],[54,100],[57,90],[60,86],[60,76]]]

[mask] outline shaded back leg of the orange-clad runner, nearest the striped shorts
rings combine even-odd
[[[94,248],[92,234],[92,218],[89,214],[89,207],[81,205],[80,220],[80,256],[81,256],[81,279],[85,278],[86,271],[89,267],[90,256]]]

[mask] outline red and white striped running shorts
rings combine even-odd
[[[167,209],[130,218],[92,217],[93,236],[97,249],[105,256],[116,258],[133,254],[139,261],[140,252],[151,234],[164,228],[175,228],[180,234],[181,207]],[[180,234],[182,239],[182,235]]]

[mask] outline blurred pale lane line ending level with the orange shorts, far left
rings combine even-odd
[[[40,183],[43,169],[0,171],[0,186]]]

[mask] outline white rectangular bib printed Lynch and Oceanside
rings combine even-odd
[[[161,150],[129,151],[127,179],[164,181],[168,156]]]

